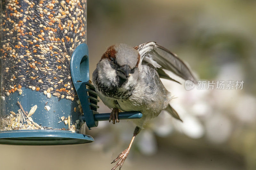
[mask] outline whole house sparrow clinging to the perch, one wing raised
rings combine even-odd
[[[170,78],[164,69],[185,80],[196,82],[188,67],[177,55],[156,42],[136,47],[126,44],[112,45],[97,64],[92,74],[92,82],[103,103],[113,109],[109,122],[119,122],[119,110],[140,111],[143,115],[141,119],[131,120],[136,125],[132,141],[129,147],[113,160],[112,163],[120,159],[112,170],[119,165],[120,168],[123,166],[135,136],[148,120],[158,116],[162,110],[181,120],[169,105],[172,100],[171,93],[165,89],[160,78],[176,80]]]

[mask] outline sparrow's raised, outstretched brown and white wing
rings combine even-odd
[[[164,72],[163,69],[165,69],[172,71],[174,74],[183,78],[184,80],[190,80],[196,83],[196,79],[194,78],[186,64],[181,61],[177,57],[177,55],[173,54],[166,48],[156,44],[156,42],[147,42],[134,48],[137,49],[140,53],[140,62],[147,62],[152,64],[156,68],[160,78],[166,78],[176,81],[170,78]]]

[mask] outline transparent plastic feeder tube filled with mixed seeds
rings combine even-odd
[[[70,57],[86,43],[86,0],[1,1],[0,133],[81,127]]]

